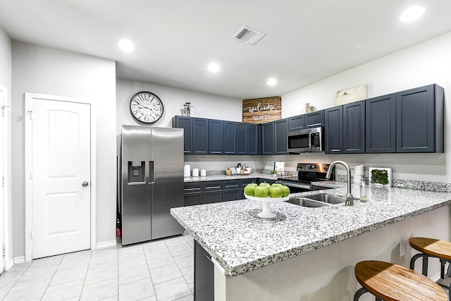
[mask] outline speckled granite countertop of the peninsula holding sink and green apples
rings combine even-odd
[[[321,182],[326,185],[333,189],[290,196],[346,194],[346,183]],[[352,187],[354,197],[359,197],[358,188]],[[366,194],[368,202],[355,200],[350,207],[273,202],[273,219],[257,216],[261,202],[248,199],[173,208],[171,214],[227,274],[235,276],[451,204],[450,192],[367,186]]]

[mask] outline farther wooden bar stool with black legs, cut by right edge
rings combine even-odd
[[[410,269],[414,269],[416,259],[423,257],[421,273],[424,276],[428,276],[428,259],[429,257],[435,257],[440,259],[440,278],[445,278],[445,263],[451,262],[451,242],[433,238],[409,238],[409,245],[421,252],[410,259]],[[450,289],[447,285],[438,284],[443,288]]]

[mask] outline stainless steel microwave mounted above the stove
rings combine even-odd
[[[323,128],[306,128],[287,133],[288,152],[323,152]]]

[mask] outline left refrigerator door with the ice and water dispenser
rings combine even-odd
[[[151,239],[150,128],[123,125],[121,135],[122,245]]]

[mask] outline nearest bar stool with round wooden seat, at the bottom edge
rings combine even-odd
[[[404,266],[388,262],[364,261],[355,265],[355,278],[363,286],[354,301],[371,293],[376,301],[447,301],[445,290],[431,279]]]

